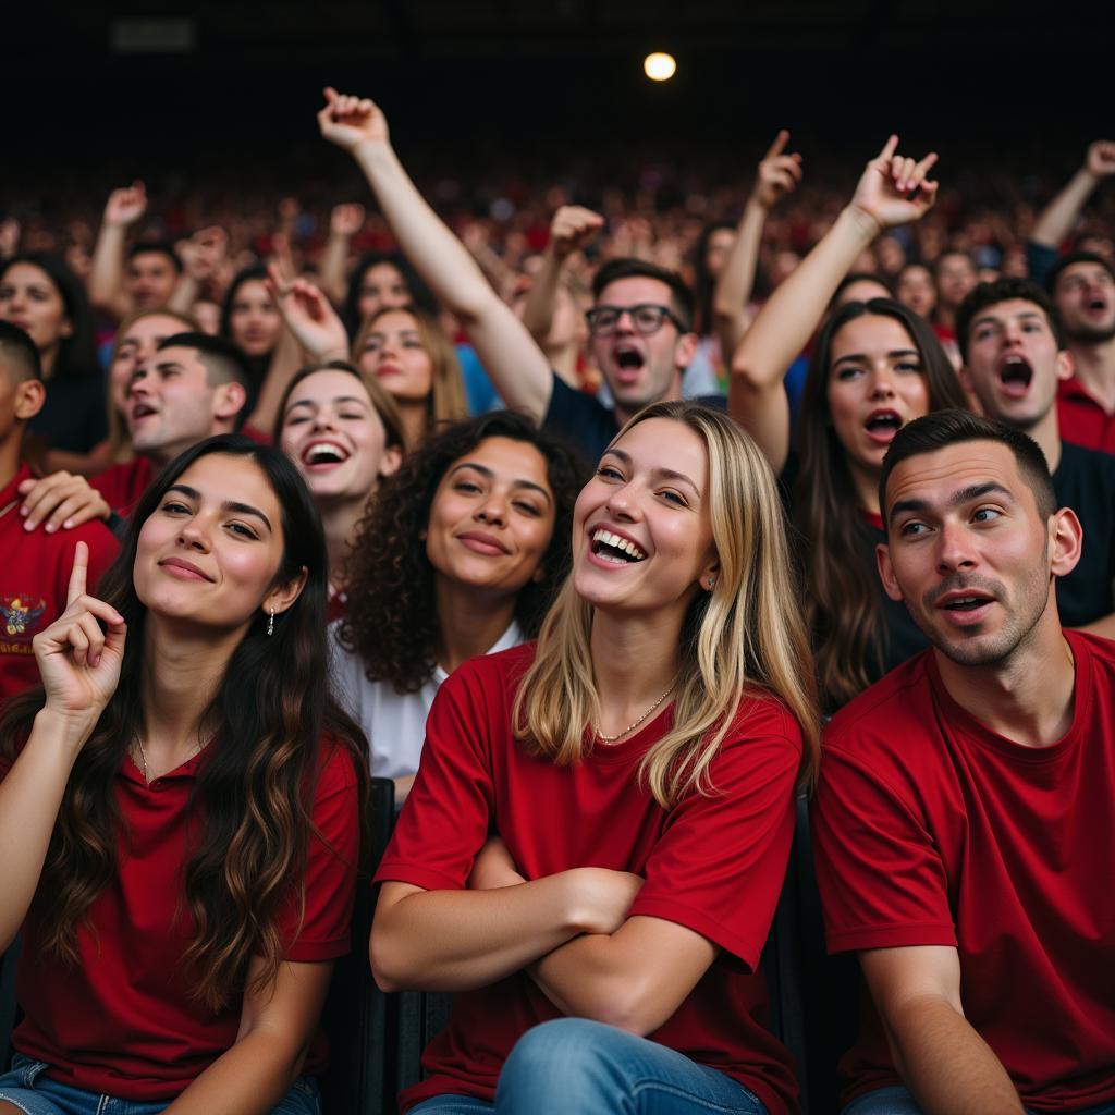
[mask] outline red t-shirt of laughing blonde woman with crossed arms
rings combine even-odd
[[[650,1038],[740,1080],[772,1113],[796,1111],[789,1055],[764,1027],[766,980],[752,973],[794,832],[797,723],[772,699],[745,702],[710,767],[718,793],[665,811],[637,772],[672,707],[574,766],[531,758],[512,738],[511,708],[533,656],[527,643],[473,659],[442,685],[376,879],[462,890],[492,831],[527,879],[579,866],[641,875],[630,917],[677,922],[724,950]],[[525,972],[454,996],[448,1028],[423,1057],[428,1078],[404,1092],[403,1107],[444,1093],[491,1102],[517,1038],[560,1017]]]

